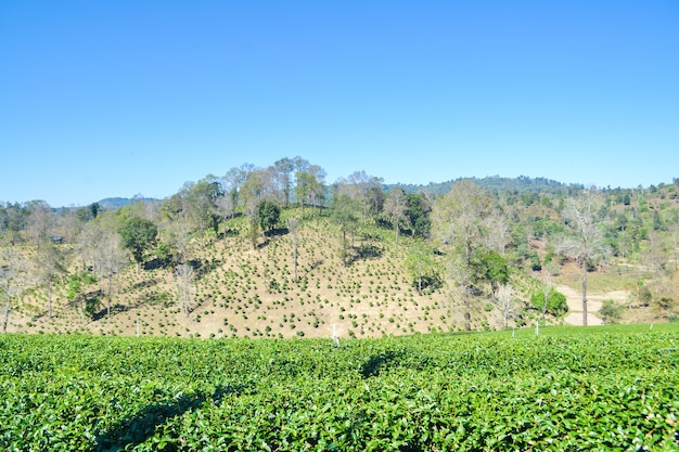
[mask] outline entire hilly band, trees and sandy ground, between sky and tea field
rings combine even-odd
[[[333,183],[302,157],[164,199],[0,204],[3,332],[380,337],[678,320],[679,180]]]

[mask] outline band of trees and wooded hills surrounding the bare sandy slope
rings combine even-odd
[[[386,186],[364,171],[329,184],[321,167],[294,157],[267,168],[244,164],[221,177],[188,182],[161,202],[117,209],[98,203],[62,209],[40,201],[0,204],[5,328],[12,300],[28,286],[44,290],[51,317],[53,286],[66,284],[68,299],[91,317],[103,300],[86,287],[104,281],[110,313],[113,279],[131,262],[139,272],[151,261],[171,270],[189,312],[200,249],[230,236],[255,250],[276,234],[290,233],[297,241],[299,225],[319,217],[335,225],[345,266],[355,258],[354,244],[366,225],[393,231],[396,243],[414,244],[403,262],[413,285],[423,292],[446,282],[450,296],[462,301],[467,327],[479,299],[490,299],[507,325],[514,314],[512,271],[533,274],[545,285],[543,296],[531,297],[536,309],[563,313],[550,280],[568,260],[581,272],[585,322],[588,273],[611,259],[648,269],[651,284],[636,287],[639,302],[657,300],[672,314],[676,295],[667,279],[677,270],[678,180],[598,190],[546,179],[522,177],[502,184],[501,178],[486,178],[457,180],[445,193],[431,189]],[[22,261],[14,246],[35,248],[34,262]],[[444,266],[437,263],[441,260]]]

